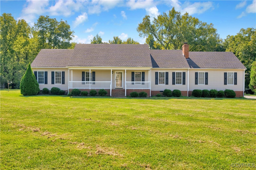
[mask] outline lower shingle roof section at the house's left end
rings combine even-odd
[[[66,67],[72,52],[72,49],[41,49],[31,67]]]

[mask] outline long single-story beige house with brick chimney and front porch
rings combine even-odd
[[[105,89],[110,96],[145,91],[148,96],[178,89],[232,89],[243,96],[246,67],[232,52],[150,50],[147,44],[76,44],[42,49],[31,63],[39,88],[65,91]]]

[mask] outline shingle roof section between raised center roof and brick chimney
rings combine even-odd
[[[153,68],[189,68],[182,50],[150,50]]]

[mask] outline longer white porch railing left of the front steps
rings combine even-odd
[[[110,81],[70,81],[70,89],[110,89]]]

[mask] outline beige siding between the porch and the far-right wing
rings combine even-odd
[[[168,85],[167,84],[155,84],[155,72],[168,72]],[[173,85],[172,84],[172,72],[186,72],[186,84],[185,85]],[[188,69],[159,69],[152,68],[151,70],[151,90],[163,91],[164,89],[187,91],[188,81]]]

